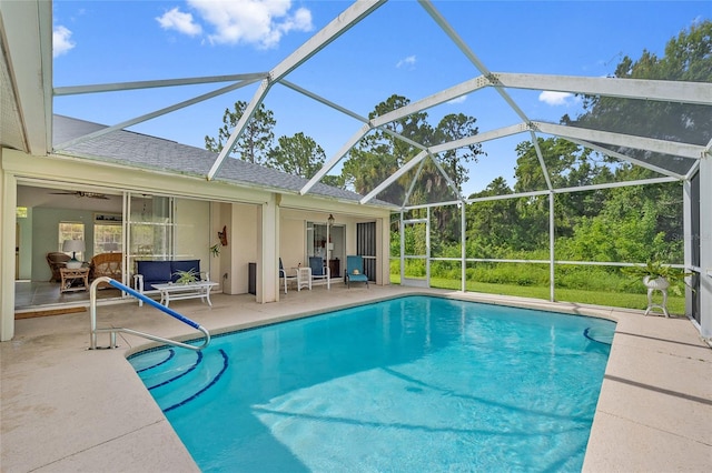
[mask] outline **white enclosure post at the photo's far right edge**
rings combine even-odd
[[[712,339],[712,158],[700,160],[700,328]]]

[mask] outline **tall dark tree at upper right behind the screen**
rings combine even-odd
[[[676,38],[668,42],[663,58],[657,58],[646,50],[636,61],[624,57],[615,69],[615,77],[712,82],[712,21],[705,20],[681,31]],[[583,103],[584,112],[580,117],[575,120],[564,117],[562,121],[692,144],[706,144],[709,130],[712,129],[712,108],[705,105],[590,95],[584,97]],[[690,170],[693,161],[642,150],[614,150],[682,174]],[[627,163],[615,170],[615,178],[621,181],[654,175],[656,173],[651,170]],[[662,239],[668,244],[670,254],[676,253],[671,260],[679,262],[682,260],[682,250],[676,236],[682,221],[680,184],[647,185],[641,192],[643,200],[639,209],[646,208],[649,202],[656,209],[652,234],[656,241]],[[612,194],[624,194],[624,191],[614,191]],[[630,205],[630,201],[626,204]],[[652,250],[654,242],[650,238],[647,243],[651,251],[661,251],[660,248]]]

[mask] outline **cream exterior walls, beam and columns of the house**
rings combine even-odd
[[[34,157],[17,150],[0,150],[1,170],[0,205],[2,234],[0,261],[0,341],[14,335],[14,232],[18,185],[87,187],[120,191],[172,195],[179,208],[179,223],[205,228],[206,232],[178,242],[178,252],[195,253],[201,261],[209,261],[210,276],[222,282],[224,292],[244,294],[248,290],[248,263],[258,265],[258,302],[277,301],[278,258],[286,254],[285,265],[303,262],[305,255],[306,221],[326,222],[330,213],[338,224],[345,225],[346,249],[355,249],[356,222],[383,221],[389,218],[384,208],[360,205],[334,199],[297,193],[284,194],[264,189],[243,188],[219,181],[206,181],[201,177],[172,174],[147,169],[127,168],[107,162],[75,159],[62,155]],[[209,203],[211,202],[211,203]],[[89,217],[87,217],[89,215]],[[91,220],[91,212],[79,215]],[[47,215],[44,215],[47,218]],[[184,220],[185,218],[185,220]],[[37,219],[37,215],[36,215]],[[56,218],[52,218],[56,219]],[[57,233],[57,222],[43,225],[42,233]],[[89,222],[90,223],[90,222]],[[209,246],[217,242],[217,231],[226,227],[228,246],[220,248],[220,256],[214,258]],[[87,231],[91,225],[87,227]],[[36,233],[37,229],[32,233]],[[28,236],[28,235],[24,235]],[[44,236],[42,236],[43,239]],[[49,238],[49,236],[48,236]],[[56,239],[56,236],[53,236]],[[88,241],[92,240],[87,236]],[[51,239],[50,239],[51,240]],[[37,242],[55,249],[56,241]],[[48,246],[48,248],[49,248]],[[379,273],[388,270],[386,253],[379,255]],[[185,250],[185,251],[184,251]],[[42,250],[43,253],[50,250]],[[88,252],[91,250],[88,249]],[[42,254],[43,254],[42,253]],[[90,255],[90,253],[87,253]],[[299,256],[301,254],[301,256]],[[350,253],[348,253],[350,254]],[[37,259],[33,254],[33,260]],[[34,264],[34,263],[33,263]],[[46,262],[37,262],[44,271]],[[216,269],[218,269],[216,271]],[[47,270],[49,271],[49,270]],[[228,278],[224,279],[227,274]],[[49,279],[49,273],[47,273]],[[387,278],[378,278],[387,283]]]

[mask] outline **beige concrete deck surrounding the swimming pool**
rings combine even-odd
[[[289,291],[278,303],[215,294],[171,305],[211,333],[411,293],[594,315],[617,322],[583,470],[703,472],[712,469],[712,350],[683,318],[642,311],[394,286]],[[98,326],[165,338],[195,331],[145,305],[102,305]],[[109,335],[98,344],[106,346]],[[0,343],[0,471],[199,471],[126,356],[152,342],[119,334],[88,351],[89,312],[16,321]]]

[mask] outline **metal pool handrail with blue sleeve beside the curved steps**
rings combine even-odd
[[[146,302],[149,305],[155,306],[156,309],[158,309],[159,311],[166,312],[168,315],[172,316],[174,319],[178,319],[180,322],[188,324],[190,326],[192,326],[196,330],[199,330],[200,332],[202,332],[205,334],[205,342],[202,342],[201,345],[196,346],[196,345],[189,345],[188,343],[182,343],[182,342],[178,342],[175,340],[169,340],[169,339],[164,339],[161,336],[157,336],[157,335],[151,335],[150,333],[145,333],[145,332],[139,332],[136,330],[131,330],[131,329],[123,329],[123,328],[115,328],[115,326],[109,326],[109,328],[103,328],[103,329],[97,329],[97,285],[101,282],[107,282],[109,284],[111,284],[112,286],[115,286],[116,289],[119,289],[123,292],[126,292],[129,295],[132,295],[134,298]],[[169,345],[174,345],[174,346],[180,346],[184,349],[188,349],[188,350],[194,350],[194,351],[199,351],[205,349],[206,346],[208,346],[208,343],[210,343],[210,332],[207,331],[207,329],[205,329],[202,325],[198,324],[197,322],[191,321],[190,319],[179,314],[178,312],[174,311],[172,309],[169,309],[156,301],[154,301],[152,299],[148,298],[145,294],[141,294],[138,291],[135,291],[134,289],[121,284],[120,282],[112,280],[111,278],[107,278],[107,276],[101,276],[101,278],[97,278],[92,283],[91,283],[91,288],[90,288],[90,293],[89,293],[89,298],[90,298],[90,315],[91,315],[91,345],[89,348],[89,350],[96,350],[97,349],[97,333],[105,333],[105,332],[109,332],[110,333],[110,343],[109,343],[109,348],[110,349],[115,349],[117,346],[116,344],[116,333],[117,332],[123,332],[123,333],[130,333],[134,335],[139,335],[142,336],[145,339],[149,339],[152,340],[155,342],[160,342],[160,343],[166,343]]]

